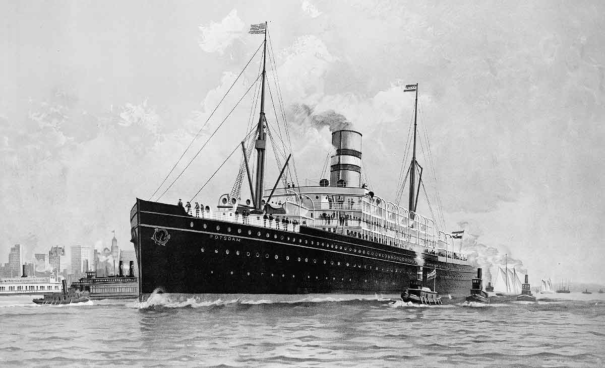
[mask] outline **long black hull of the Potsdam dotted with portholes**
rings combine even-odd
[[[156,229],[169,237],[157,236]],[[131,230],[142,299],[154,291],[401,294],[417,273],[411,250],[314,228],[295,233],[197,218],[176,205],[141,199],[131,211]],[[437,268],[440,294],[465,295],[472,266],[422,256],[425,277]]]

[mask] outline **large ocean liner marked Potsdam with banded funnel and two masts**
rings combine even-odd
[[[362,183],[362,134],[350,129],[332,132],[329,179],[319,179],[316,186],[290,185],[284,171],[291,155],[284,155],[286,162],[281,166],[278,161],[281,172],[269,190],[264,188],[267,137],[273,141],[264,111],[266,24],[253,25],[250,33],[264,34],[257,49],[263,48],[260,118],[241,143],[239,182],[214,208],[137,198],[130,221],[140,300],[154,291],[400,294],[410,279],[426,280],[433,271],[430,283],[440,294],[464,296],[476,269],[465,254],[454,251],[457,236],[416,213],[422,182],[416,161],[418,85],[405,89],[416,92],[408,208]],[[254,149],[252,167],[248,161]],[[246,176],[251,198],[242,201]]]

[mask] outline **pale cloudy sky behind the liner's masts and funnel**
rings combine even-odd
[[[269,21],[301,181],[330,151],[328,128],[296,113],[307,105],[364,134],[368,181],[394,199],[413,113],[403,86],[418,82],[436,181],[419,161],[446,230],[465,228],[483,261],[518,260],[534,285],[605,283],[601,2],[36,1],[2,2],[0,19],[0,262],[18,242],[104,247],[114,229],[130,247],[135,198],[220,126],[160,200],[191,198],[246,135],[252,92],[220,124],[258,55],[204,122],[261,44],[247,28]],[[235,156],[196,200],[231,190]]]

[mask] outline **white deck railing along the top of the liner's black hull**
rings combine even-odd
[[[356,233],[356,237],[362,239],[362,231],[371,231],[375,234],[388,234],[393,233],[391,236],[393,238],[397,238],[396,232],[392,230],[385,230],[382,227],[376,227],[374,225],[368,224],[367,222],[361,221],[361,219],[344,219],[344,225],[341,224],[338,218],[335,219],[313,219],[306,216],[296,216],[296,215],[276,215],[274,216],[273,221],[269,219],[264,219],[263,215],[249,215],[243,216],[241,213],[237,215],[233,211],[200,211],[199,213],[190,215],[196,218],[206,218],[206,219],[214,219],[220,221],[232,222],[234,224],[244,224],[244,225],[255,225],[259,227],[265,228],[273,228],[276,230],[286,230],[293,231],[298,233],[300,231],[300,225],[322,228],[327,231],[331,231],[333,233],[341,233],[345,235],[350,235],[352,233]],[[290,224],[284,224],[281,221],[276,221],[276,218],[288,218]],[[296,220],[298,224],[293,224],[292,221]],[[340,230],[339,230],[340,228]],[[399,244],[387,244],[392,247],[404,248],[408,250],[416,251],[417,253],[425,253],[431,254],[434,256],[447,257],[450,259],[458,259],[458,260],[467,260],[466,254],[454,253],[452,251],[443,251],[437,248],[439,242],[434,242],[430,240],[427,236],[413,236],[414,234],[420,234],[421,232],[418,230],[410,229],[410,233],[404,234],[403,237],[399,237]],[[426,234],[425,234],[426,235]]]

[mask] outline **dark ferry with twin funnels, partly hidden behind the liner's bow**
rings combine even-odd
[[[123,274],[120,260],[119,274],[97,276],[96,271],[87,271],[86,277],[72,282],[70,289],[87,292],[90,299],[134,299],[139,296],[139,280],[134,276],[134,261],[130,261],[128,275]]]

